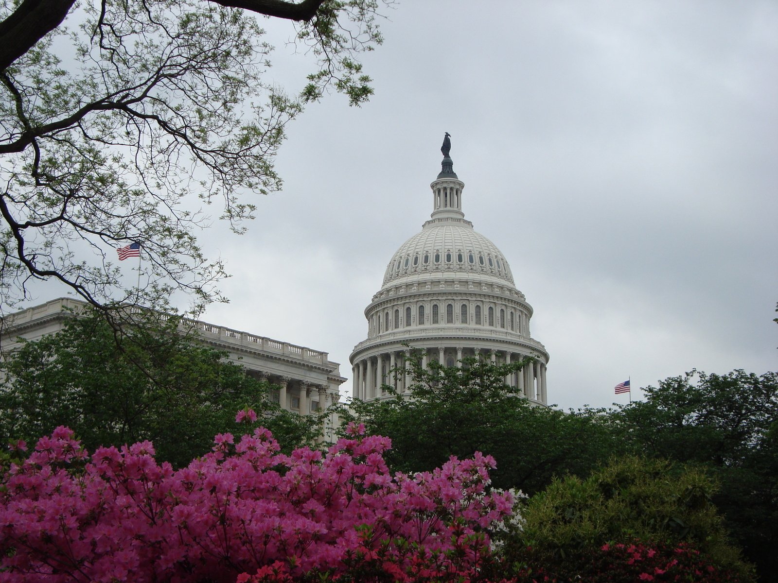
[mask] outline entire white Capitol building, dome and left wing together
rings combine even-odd
[[[353,397],[387,397],[384,383],[408,391],[408,347],[422,351],[423,363],[461,365],[465,357],[492,362],[530,356],[531,365],[506,378],[517,394],[546,405],[548,352],[531,338],[532,307],[513,283],[503,253],[476,232],[462,211],[464,183],[454,173],[449,136],[432,188],[432,215],[389,261],[380,290],[365,309],[367,337],[351,354]],[[85,306],[59,298],[6,316],[0,347],[12,350],[19,337],[37,340],[56,333]],[[287,410],[308,414],[342,398],[346,379],[325,351],[258,333],[191,321],[199,340],[226,351],[247,373],[275,385],[272,398]],[[399,374],[392,371],[399,369]]]

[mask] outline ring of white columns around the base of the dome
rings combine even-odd
[[[456,359],[454,360],[454,351]],[[468,354],[464,354],[467,351]],[[426,368],[430,360],[436,360],[443,365],[452,365],[454,362],[461,366],[464,355],[482,355],[496,363],[498,353],[496,351],[482,351],[465,349],[464,347],[437,347],[428,348],[422,352],[422,366]],[[510,351],[501,351],[501,361],[510,364],[511,358],[524,358],[524,354]],[[407,351],[388,351],[382,354],[374,354],[357,361],[352,367],[353,395],[355,399],[370,400],[383,394],[381,386],[387,384],[394,387],[398,393],[408,391],[410,376],[409,366],[406,363]],[[447,362],[448,357],[448,362]],[[453,361],[453,362],[452,362]],[[505,378],[507,386],[516,389],[520,395],[529,399],[547,403],[546,394],[546,367],[541,361],[534,361],[519,371],[512,372]]]

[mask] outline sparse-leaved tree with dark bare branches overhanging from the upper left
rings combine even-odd
[[[246,195],[281,185],[275,154],[303,105],[330,87],[355,105],[370,96],[356,58],[381,42],[378,2],[0,3],[0,306],[31,278],[93,305],[160,307],[177,289],[219,299],[197,197],[221,201],[240,232]],[[265,79],[271,17],[317,61],[296,95]],[[145,259],[122,292],[114,248],[131,242]]]

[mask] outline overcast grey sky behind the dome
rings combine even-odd
[[[384,13],[370,103],[310,106],[247,234],[203,233],[233,273],[205,319],[328,351],[350,394],[363,310],[429,218],[448,131],[465,215],[534,307],[549,403],[626,403],[616,383],[638,399],[695,367],[776,370],[778,3]],[[270,75],[295,92],[312,66],[279,43],[286,26],[268,21]]]

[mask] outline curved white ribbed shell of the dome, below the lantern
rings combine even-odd
[[[510,266],[496,245],[471,222],[451,218],[427,221],[421,232],[405,241],[387,265],[383,285],[441,273],[486,276],[513,285]]]

